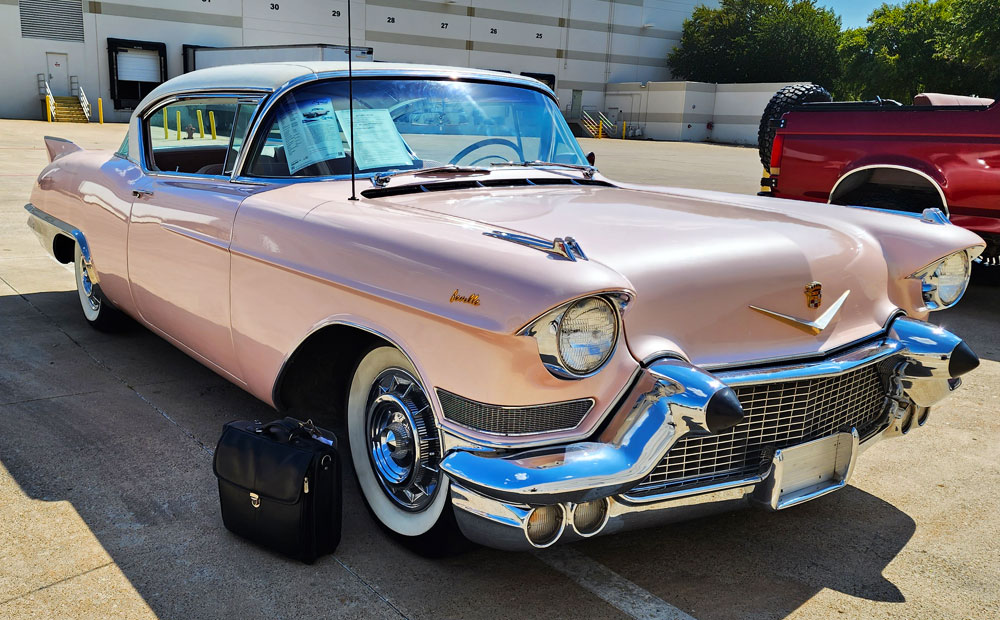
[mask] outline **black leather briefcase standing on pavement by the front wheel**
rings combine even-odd
[[[294,418],[229,422],[214,469],[230,531],[309,564],[337,548],[342,498],[333,433]]]

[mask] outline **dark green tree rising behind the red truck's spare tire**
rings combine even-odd
[[[675,78],[700,82],[832,84],[840,18],[816,0],[722,0],[697,7],[667,58]]]

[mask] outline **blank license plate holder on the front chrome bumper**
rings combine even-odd
[[[775,450],[771,468],[751,494],[768,510],[791,508],[847,486],[860,443],[858,431],[836,433]]]

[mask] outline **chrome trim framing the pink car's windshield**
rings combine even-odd
[[[249,174],[245,174],[244,170],[247,165],[247,153],[254,150],[257,142],[257,134],[261,130],[261,125],[263,120],[267,118],[268,114],[271,113],[271,109],[274,108],[285,96],[291,91],[305,86],[306,84],[311,84],[313,82],[319,82],[322,80],[336,80],[336,79],[346,79],[347,71],[323,71],[321,73],[309,73],[306,75],[301,75],[297,78],[291,79],[278,88],[276,88],[271,95],[266,98],[261,106],[258,107],[257,113],[254,115],[253,121],[250,126],[250,130],[247,132],[247,144],[250,144],[249,149],[240,149],[239,157],[236,159],[236,165],[233,166],[233,173],[231,180],[233,181],[244,181],[244,180],[255,180],[255,179],[274,179],[275,177],[256,177]],[[455,80],[455,81],[467,81],[467,82],[478,82],[485,84],[505,84],[505,85],[517,85],[524,88],[529,88],[548,96],[555,104],[559,107],[559,98],[556,97],[555,93],[552,92],[545,84],[533,80],[531,78],[525,78],[523,76],[504,77],[499,75],[482,75],[475,71],[427,71],[427,70],[386,70],[386,69],[357,69],[353,71],[354,78],[428,78],[433,80]],[[355,178],[371,178],[374,177],[375,172],[371,173],[356,173]],[[350,179],[351,175],[331,175],[331,176],[318,176],[318,177],[302,177],[294,179],[293,182],[310,182],[310,181],[330,181],[330,180],[342,180]]]

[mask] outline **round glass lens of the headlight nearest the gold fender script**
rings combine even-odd
[[[558,328],[559,359],[566,370],[585,375],[607,361],[618,340],[618,315],[601,297],[574,303]]]

